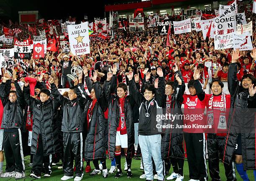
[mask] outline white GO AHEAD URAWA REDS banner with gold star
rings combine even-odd
[[[90,53],[88,22],[68,25],[70,50],[74,55]]]

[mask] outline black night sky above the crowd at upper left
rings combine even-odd
[[[18,11],[39,11],[38,18],[46,20],[66,19],[71,15],[77,20],[104,17],[106,4],[136,2],[138,0],[0,0],[0,20],[18,22]],[[108,17],[108,14],[106,14]]]

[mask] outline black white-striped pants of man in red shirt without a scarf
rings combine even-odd
[[[204,133],[184,133],[189,165],[189,179],[208,179],[206,164],[206,140]]]

